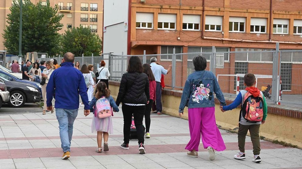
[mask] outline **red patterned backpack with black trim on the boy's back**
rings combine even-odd
[[[259,96],[254,97],[249,91],[244,94],[243,105],[241,106],[239,121],[242,117],[250,123],[257,123],[262,121],[263,118],[263,97],[260,93]]]

